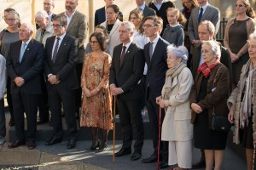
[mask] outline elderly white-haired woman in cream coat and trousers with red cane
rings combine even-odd
[[[167,47],[166,82],[162,95],[156,103],[165,108],[166,116],[162,125],[161,140],[169,141],[169,161],[171,169],[187,169],[192,166],[193,125],[189,94],[193,77],[186,63],[187,48],[172,45]]]

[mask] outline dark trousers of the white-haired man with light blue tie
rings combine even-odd
[[[38,113],[38,94],[12,94],[15,131],[19,140],[25,140],[24,134],[24,112],[26,113],[28,141],[36,140],[37,113]]]

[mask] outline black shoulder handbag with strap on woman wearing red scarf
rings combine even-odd
[[[222,66],[220,66],[218,68],[218,71],[221,67]],[[216,82],[216,77],[218,75],[218,71],[214,77],[213,85]],[[230,128],[231,128],[231,123],[229,122],[228,117],[227,116],[217,116],[215,114],[215,108],[213,105],[211,129],[214,131],[218,131],[218,132],[228,133],[228,132],[230,132]]]

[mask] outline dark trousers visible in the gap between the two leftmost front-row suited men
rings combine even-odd
[[[47,122],[49,121],[49,104],[44,74],[41,75],[41,84],[42,94],[40,94],[38,101],[39,119],[40,121]]]

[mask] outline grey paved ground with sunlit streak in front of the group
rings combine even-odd
[[[7,114],[9,122],[9,114]],[[7,130],[7,132],[9,132]],[[90,134],[89,134],[90,135]],[[9,134],[6,137],[9,138]],[[39,170],[154,170],[156,163],[144,164],[140,161],[131,161],[130,156],[122,156],[112,161],[113,141],[108,141],[108,149],[103,152],[90,151],[91,142],[78,141],[77,147],[67,150],[67,141],[53,146],[45,146],[43,141],[38,142],[36,150],[27,150],[26,146],[16,149],[8,149],[6,142],[0,145],[0,169],[39,169]],[[116,141],[116,150],[121,147],[121,141]],[[143,145],[142,158],[150,156],[153,152],[152,142],[145,140]],[[200,157],[200,151],[195,149],[193,162]],[[227,148],[224,157],[224,170],[246,170],[246,162],[237,156],[232,150]]]

